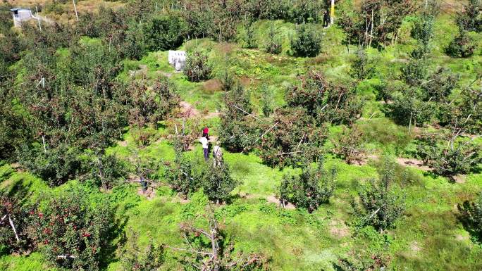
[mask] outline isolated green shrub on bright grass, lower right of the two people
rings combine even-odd
[[[288,201],[312,213],[322,203],[328,203],[333,195],[335,175],[334,169],[330,172],[324,170],[321,160],[315,169],[306,165],[299,176],[285,175],[280,186],[281,201]]]

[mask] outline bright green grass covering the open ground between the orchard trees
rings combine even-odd
[[[477,63],[481,60],[478,56],[468,59],[452,59],[443,56],[440,51],[447,42],[444,33],[453,28],[448,23],[447,16],[440,17],[436,26],[435,51],[433,65],[448,65],[456,72],[463,73],[462,81],[469,80],[474,73]],[[259,39],[264,37],[268,29],[267,21],[259,22]],[[276,22],[283,33],[288,37],[293,25]],[[407,27],[407,25],[405,25]],[[408,29],[408,27],[407,27]],[[403,36],[402,36],[403,37]],[[386,51],[370,51],[370,55],[380,61],[381,74],[386,75],[400,65],[400,59],[407,57],[407,51],[413,45],[405,33],[405,44],[388,48]],[[478,39],[480,39],[480,35]],[[193,44],[194,43],[194,44]],[[196,44],[197,43],[197,44]],[[263,43],[259,41],[260,45]],[[326,30],[323,40],[322,53],[319,58],[304,59],[282,56],[270,56],[258,50],[240,49],[235,44],[214,44],[207,41],[188,42],[186,49],[202,44],[204,47],[213,48],[215,67],[225,61],[225,56],[230,56],[230,69],[240,77],[248,89],[252,91],[252,100],[259,100],[259,87],[267,84],[276,93],[276,103],[283,104],[284,89],[287,84],[295,82],[299,73],[304,73],[308,68],[317,68],[326,72],[333,80],[343,80],[347,77],[349,60],[354,48],[347,52],[341,46],[341,36],[338,30]],[[285,52],[287,49],[284,49]],[[128,70],[137,65],[147,65],[147,78],[155,79],[161,75],[171,76],[171,80],[178,86],[179,93],[199,110],[215,111],[221,101],[221,93],[216,90],[206,90],[206,83],[191,83],[185,80],[180,73],[166,65],[166,52],[149,53],[139,62],[127,61],[125,66],[126,77]],[[395,63],[393,65],[392,63]],[[386,68],[385,68],[386,67]],[[218,72],[215,68],[215,73]],[[373,98],[370,94],[370,82],[361,93]],[[371,115],[374,109],[379,108],[375,101],[369,103],[364,116]],[[376,115],[373,122],[383,120],[383,113]],[[218,119],[210,120],[213,125]],[[382,122],[383,123],[383,122]],[[404,134],[403,127],[393,125],[391,133]],[[333,127],[336,132],[338,127]],[[159,130],[161,140],[148,146],[143,152],[146,156],[156,160],[172,160],[172,146],[163,139],[168,132]],[[216,129],[214,129],[216,133]],[[334,137],[335,138],[335,137]],[[118,156],[129,156],[132,151],[132,137],[125,134],[125,143],[113,146],[110,151]],[[374,152],[387,151],[381,143],[368,144]],[[390,148],[388,148],[390,151]],[[202,152],[199,146],[191,151],[192,156],[200,158]],[[242,181],[233,195],[233,203],[228,206],[216,208],[216,215],[225,224],[225,229],[237,241],[236,248],[244,251],[263,251],[273,259],[273,270],[333,270],[331,263],[338,256],[349,253],[353,248],[376,252],[389,251],[392,256],[393,267],[397,270],[481,270],[482,249],[474,244],[469,234],[463,229],[456,218],[455,205],[465,199],[473,198],[480,191],[482,184],[481,174],[471,174],[466,177],[463,184],[452,184],[447,179],[436,177],[421,170],[412,169],[416,182],[402,184],[407,192],[407,212],[397,227],[390,231],[388,239],[371,229],[365,229],[357,237],[349,226],[350,222],[350,195],[354,194],[360,182],[369,177],[376,177],[377,171],[374,163],[364,166],[346,165],[341,160],[328,156],[327,167],[338,168],[338,189],[335,196],[326,206],[322,206],[313,214],[300,210],[285,210],[276,208],[273,203],[268,203],[266,198],[276,194],[276,186],[284,173],[296,170],[286,168],[269,168],[262,165],[260,159],[253,154],[225,153],[225,160],[233,170],[233,176]],[[14,187],[21,183],[29,187],[34,195],[41,195],[42,191],[51,191],[41,180],[32,177],[27,172],[14,172],[8,165],[1,168],[1,185]],[[68,185],[78,185],[73,181]],[[58,189],[62,189],[58,188]],[[56,189],[57,190],[57,189]],[[99,194],[98,191],[91,191]],[[156,191],[152,200],[137,195],[137,187],[121,187],[108,194],[111,201],[118,204],[118,218],[126,220],[125,229],[141,233],[140,241],[146,244],[148,239],[159,243],[180,245],[178,223],[188,220],[194,214],[202,212],[206,205],[206,198],[201,193],[190,196],[190,202],[180,201],[173,191],[161,187]],[[35,198],[35,197],[34,197]],[[39,196],[37,196],[39,198]],[[33,200],[33,198],[32,198]],[[173,258],[168,257],[168,267],[175,267]],[[4,270],[42,270],[45,269],[42,256],[32,253],[30,256],[2,256],[0,269]],[[109,270],[119,270],[117,260],[109,265]]]

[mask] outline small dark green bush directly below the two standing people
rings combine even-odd
[[[228,201],[231,191],[238,185],[240,185],[240,181],[231,177],[228,165],[225,163],[218,166],[209,163],[202,172],[204,194],[216,203]]]

